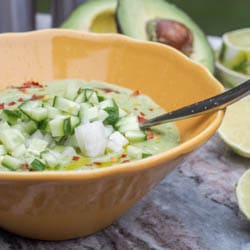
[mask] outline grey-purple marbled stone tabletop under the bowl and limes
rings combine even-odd
[[[103,231],[46,242],[0,231],[0,250],[250,250],[250,223],[240,214],[235,184],[250,159],[215,136],[143,200]]]

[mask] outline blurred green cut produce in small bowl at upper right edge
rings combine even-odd
[[[223,35],[220,61],[228,68],[250,75],[250,28]]]

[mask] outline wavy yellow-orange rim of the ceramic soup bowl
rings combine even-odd
[[[201,71],[204,72],[204,74],[207,75],[207,77],[211,78],[211,82],[213,84],[217,84],[217,87],[221,92],[224,91],[224,87],[220,84],[220,82],[209,72],[207,68],[205,68],[203,65],[194,62],[187,58],[185,55],[183,55],[181,52],[177,51],[176,49],[162,45],[159,43],[154,43],[150,41],[141,41],[134,38],[127,37],[125,35],[121,34],[96,34],[96,33],[90,33],[90,32],[83,32],[83,31],[77,31],[77,30],[68,30],[68,29],[44,29],[44,30],[35,30],[35,31],[28,31],[28,32],[16,32],[16,33],[3,33],[0,34],[0,39],[6,38],[6,37],[33,37],[37,34],[44,34],[46,35],[70,35],[70,36],[77,36],[84,38],[92,38],[92,39],[98,39],[102,41],[107,40],[113,40],[113,41],[120,41],[120,42],[126,42],[130,44],[140,44],[143,46],[146,46],[147,48],[154,49],[157,47],[161,47],[165,50],[172,50],[173,53],[176,53],[179,55],[179,57],[182,58],[182,60],[185,60],[186,63],[193,64],[194,67],[200,68]],[[202,130],[198,135],[194,136],[192,139],[187,140],[176,147],[164,151],[162,153],[156,154],[154,156],[151,156],[149,158],[145,158],[138,161],[131,161],[128,163],[121,163],[113,166],[109,166],[106,168],[97,168],[97,169],[91,169],[91,170],[67,170],[67,171],[41,171],[41,172],[0,172],[0,181],[2,180],[8,180],[8,181],[76,181],[76,180],[92,180],[117,174],[132,174],[134,172],[138,172],[141,170],[146,170],[148,168],[162,165],[164,163],[167,164],[167,161],[174,160],[178,156],[185,155],[192,151],[193,149],[200,146],[202,143],[204,143],[207,139],[209,139],[216,129],[219,127],[224,111],[219,110],[216,111],[215,118],[211,121],[211,123]],[[209,114],[208,114],[209,116]]]

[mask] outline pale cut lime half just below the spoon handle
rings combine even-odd
[[[222,140],[237,154],[250,158],[250,96],[226,110],[218,130]]]

